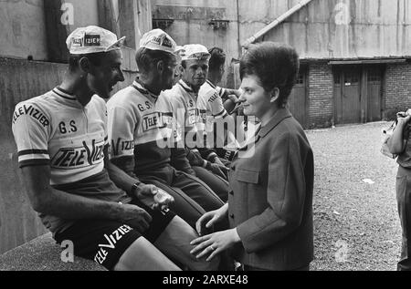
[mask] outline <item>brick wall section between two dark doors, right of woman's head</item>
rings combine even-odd
[[[309,69],[310,129],[332,125],[332,87],[332,67],[326,63],[311,64]]]

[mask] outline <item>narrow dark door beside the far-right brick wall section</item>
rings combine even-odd
[[[382,79],[383,69],[381,67],[370,67],[367,71],[367,121],[379,121],[382,119]]]

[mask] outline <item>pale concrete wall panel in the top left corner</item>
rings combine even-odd
[[[47,59],[43,0],[0,1],[0,57]]]

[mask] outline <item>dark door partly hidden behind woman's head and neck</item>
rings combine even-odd
[[[303,128],[307,128],[307,69],[301,67],[297,83],[289,98],[290,112],[300,122]]]

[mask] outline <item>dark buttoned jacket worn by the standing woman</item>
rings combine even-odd
[[[313,260],[314,160],[307,137],[287,108],[239,150],[230,171],[228,216],[241,245],[237,261],[294,270]]]

